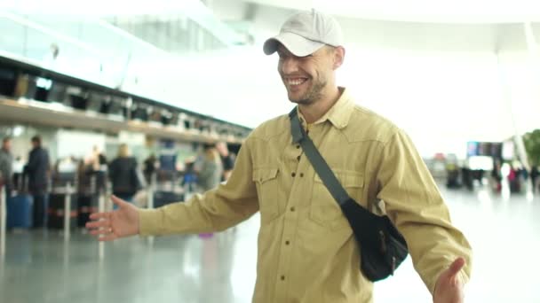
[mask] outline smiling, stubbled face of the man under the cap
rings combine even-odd
[[[321,99],[334,72],[332,51],[322,47],[311,55],[297,57],[280,45],[277,53],[280,57],[278,72],[290,101],[310,105]]]

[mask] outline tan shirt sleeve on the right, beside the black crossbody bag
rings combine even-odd
[[[414,267],[429,291],[441,272],[457,257],[465,258],[460,273],[471,274],[472,249],[461,231],[452,226],[449,209],[409,136],[396,130],[384,145],[377,167],[377,198],[407,240]]]

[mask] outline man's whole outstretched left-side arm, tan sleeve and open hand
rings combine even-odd
[[[185,203],[156,209],[139,209],[119,198],[119,206],[108,213],[91,214],[86,227],[100,241],[133,235],[168,235],[227,229],[258,211],[257,188],[252,182],[249,144],[244,143],[239,165],[226,185],[195,195]]]

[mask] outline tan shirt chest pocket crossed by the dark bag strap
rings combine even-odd
[[[349,197],[358,201],[364,186],[363,175],[355,171],[335,170],[334,174],[345,188]],[[341,229],[349,225],[345,215],[341,212],[338,202],[332,197],[330,191],[322,183],[321,177],[315,173],[313,196],[311,199],[311,220],[331,229]]]

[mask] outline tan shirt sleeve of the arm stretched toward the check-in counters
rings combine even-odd
[[[249,138],[248,138],[249,140]],[[257,188],[252,182],[248,140],[242,144],[226,184],[196,194],[187,202],[139,210],[139,234],[169,235],[224,230],[258,211]]]

